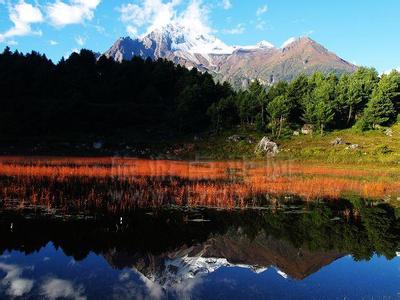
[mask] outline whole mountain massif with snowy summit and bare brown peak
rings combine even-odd
[[[116,61],[134,56],[165,58],[209,72],[217,80],[229,81],[236,87],[246,86],[254,79],[270,85],[280,80],[289,81],[301,73],[342,74],[357,68],[308,37],[294,40],[283,48],[275,48],[268,41],[232,47],[212,35],[194,34],[173,24],[144,37],[120,38],[104,55]]]

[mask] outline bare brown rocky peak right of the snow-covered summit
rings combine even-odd
[[[284,48],[237,50],[220,60],[218,79],[228,80],[236,86],[255,78],[264,84],[273,84],[280,80],[290,81],[302,73],[342,74],[356,70],[356,66],[308,37],[299,38]]]

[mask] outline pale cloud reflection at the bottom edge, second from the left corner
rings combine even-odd
[[[40,288],[41,294],[48,299],[86,299],[82,287],[75,287],[72,282],[58,278],[46,280]]]

